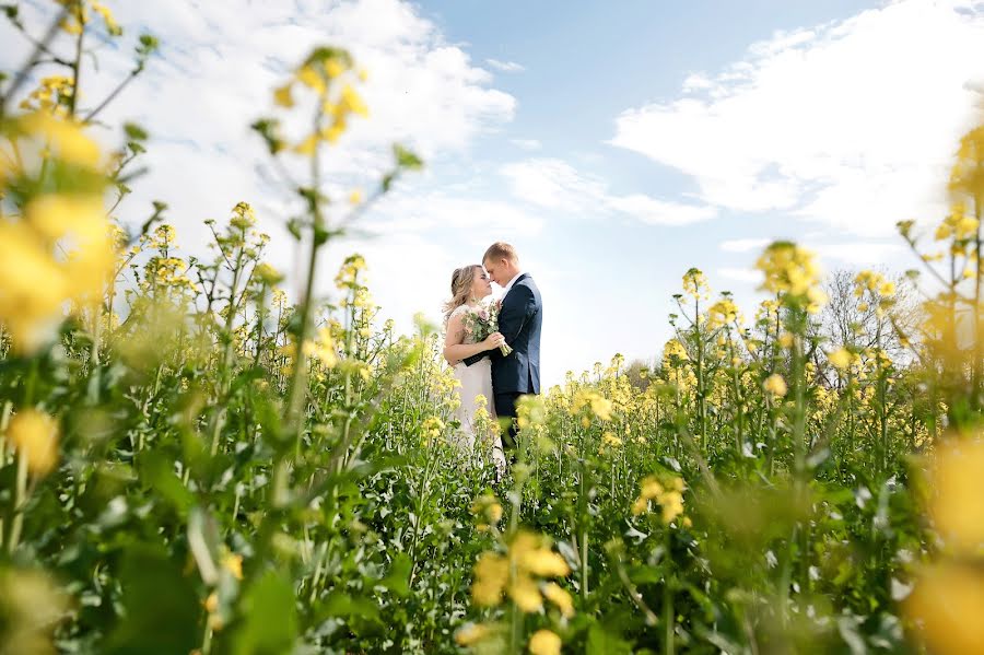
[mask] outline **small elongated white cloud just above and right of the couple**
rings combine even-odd
[[[502,167],[513,194],[532,204],[574,215],[616,213],[644,223],[684,225],[716,215],[706,204],[686,204],[643,194],[612,194],[600,177],[581,173],[564,161],[534,159]]]

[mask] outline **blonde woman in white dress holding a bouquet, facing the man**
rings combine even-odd
[[[492,282],[481,266],[472,265],[455,269],[452,274],[452,300],[444,305],[444,318],[447,324],[447,332],[444,338],[444,359],[454,366],[454,375],[461,384],[458,390],[461,403],[455,412],[455,418],[461,424],[461,434],[458,447],[469,456],[476,453],[476,430],[473,425],[475,412],[478,409],[477,396],[484,396],[489,407],[489,413],[494,423],[495,409],[492,402],[492,364],[489,358],[482,358],[471,366],[465,365],[462,360],[471,355],[499,348],[505,342],[505,338],[499,334],[473,342],[471,335],[465,330],[462,315],[470,308],[478,307],[479,301],[492,294]],[[497,471],[505,469],[505,456],[502,452],[502,440],[494,436],[492,443],[492,459]]]

